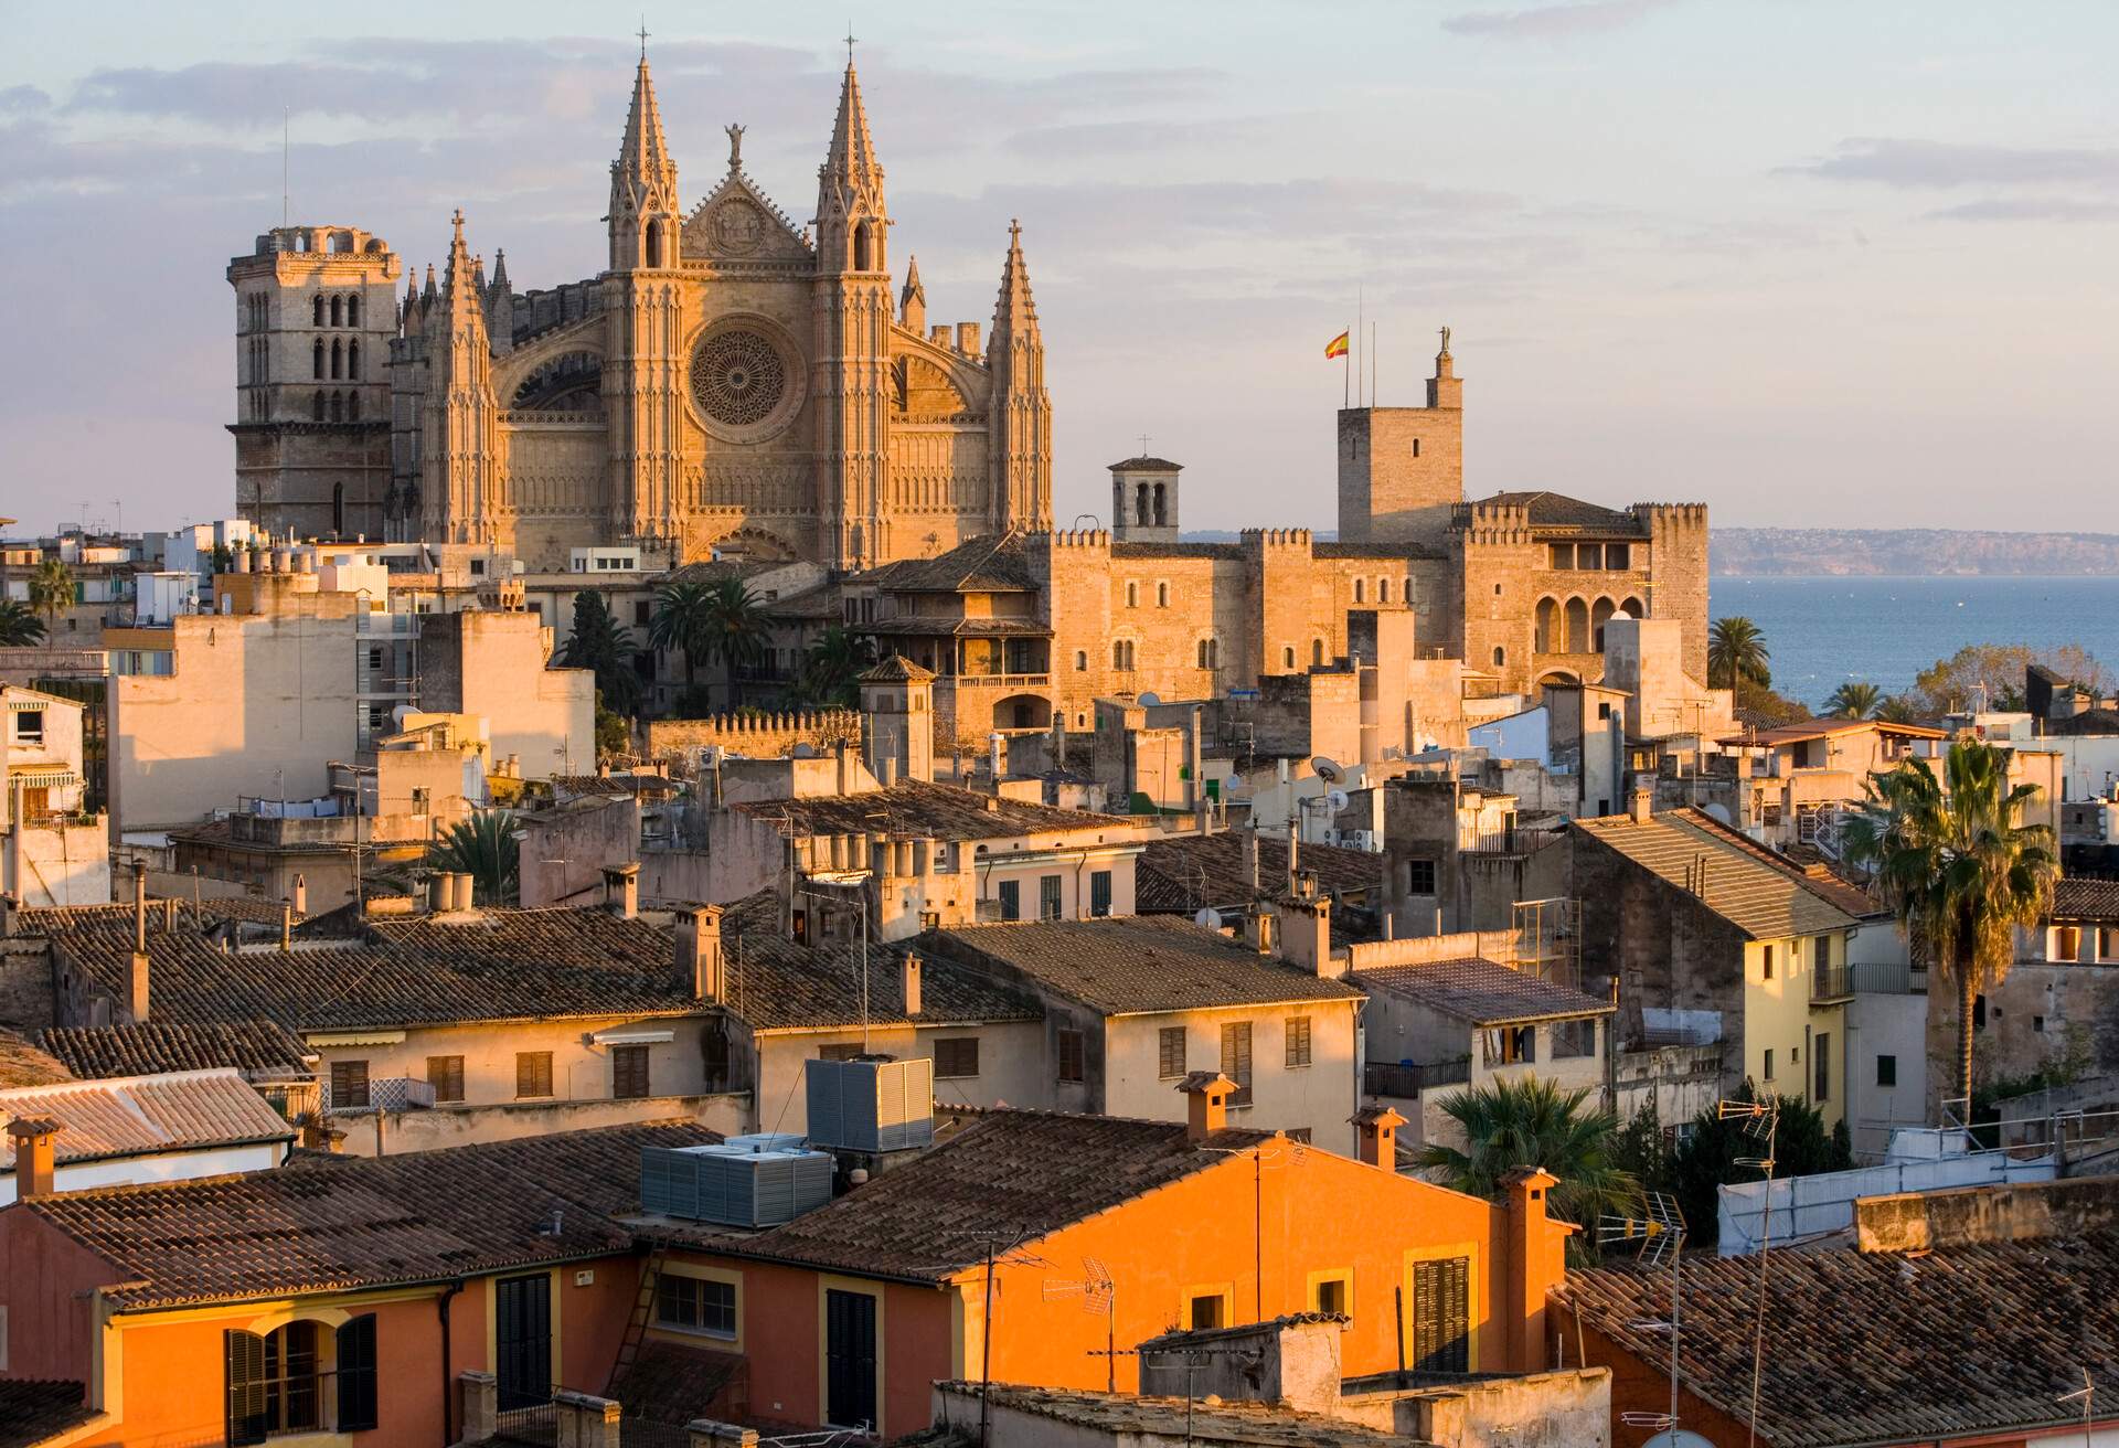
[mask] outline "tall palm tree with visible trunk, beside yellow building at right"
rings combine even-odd
[[[1873,776],[1867,801],[1846,827],[1848,859],[1875,871],[1899,926],[1928,946],[1928,958],[1958,986],[1958,1096],[1973,1094],[1973,1009],[2015,958],[2017,926],[2053,905],[2060,859],[2053,831],[2024,825],[2038,793],[2009,784],[2009,753],[1960,740],[1943,757],[1943,778],[1920,759]]]

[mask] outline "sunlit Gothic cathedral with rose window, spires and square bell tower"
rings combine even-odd
[[[373,326],[369,290],[396,280],[396,257],[352,231],[341,250],[328,227],[259,237],[229,265],[237,511],[295,536],[489,545],[538,572],[598,545],[640,547],[644,568],[714,549],[867,568],[1049,528],[1051,399],[1019,229],[985,335],[930,326],[918,265],[892,276],[852,64],[809,227],[744,172],[742,127],[727,134],[727,172],[684,210],[642,57],[608,269],[515,293],[504,254],[487,280],[458,214],[441,276],[403,303],[384,293],[394,331],[360,339],[354,373],[328,297],[360,290],[352,316]]]

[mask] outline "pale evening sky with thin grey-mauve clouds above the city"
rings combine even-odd
[[[6,6],[0,513],[233,505],[225,269],[282,210],[593,276],[646,25],[687,206],[723,125],[797,223],[848,25],[892,257],[987,324],[1021,218],[1062,526],[1333,526],[1324,343],[1464,377],[1466,492],[1723,526],[2119,532],[2108,0],[443,0]],[[602,28],[587,25],[602,21]]]

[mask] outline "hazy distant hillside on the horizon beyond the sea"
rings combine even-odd
[[[2119,534],[1956,528],[1714,528],[1708,566],[1761,575],[2036,575],[2119,572]]]

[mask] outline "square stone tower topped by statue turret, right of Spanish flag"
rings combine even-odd
[[[1443,329],[1426,407],[1339,411],[1339,541],[1441,551],[1449,543],[1449,509],[1462,500],[1464,382]]]

